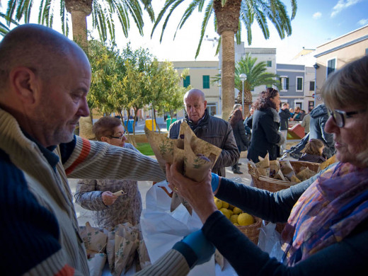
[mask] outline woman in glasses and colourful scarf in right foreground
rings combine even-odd
[[[328,76],[321,95],[338,162],[288,189],[268,192],[210,172],[195,183],[178,172],[178,164],[166,165],[170,186],[203,222],[202,240],[212,243],[238,275],[367,275],[367,88],[368,56]],[[231,224],[217,210],[213,195],[266,221],[287,222],[280,238],[282,262]]]

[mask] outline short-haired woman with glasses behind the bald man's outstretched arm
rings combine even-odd
[[[120,119],[102,117],[93,125],[98,141],[138,151],[128,144]],[[123,190],[122,195],[113,195]],[[76,203],[92,211],[96,226],[111,228],[117,224],[139,223],[142,212],[142,197],[136,180],[90,180],[82,179],[76,185]]]

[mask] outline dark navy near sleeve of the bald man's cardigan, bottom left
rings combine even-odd
[[[57,219],[1,150],[0,172],[1,275],[74,275],[64,260]]]

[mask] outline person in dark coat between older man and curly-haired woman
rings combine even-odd
[[[243,125],[243,115],[241,114],[241,110],[237,109],[234,111],[234,113],[231,115],[230,118],[230,125],[233,128],[233,133],[235,137],[236,146],[238,146],[239,153],[241,151],[246,151],[248,140],[246,138],[246,129]],[[231,166],[234,173],[243,174],[239,170],[238,163]]]

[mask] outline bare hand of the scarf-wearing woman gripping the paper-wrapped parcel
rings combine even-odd
[[[184,197],[195,209],[202,223],[205,223],[209,215],[217,210],[212,193],[211,171],[208,171],[205,179],[195,182],[179,173],[177,166],[178,163],[173,163],[173,165],[166,163],[168,186]]]

